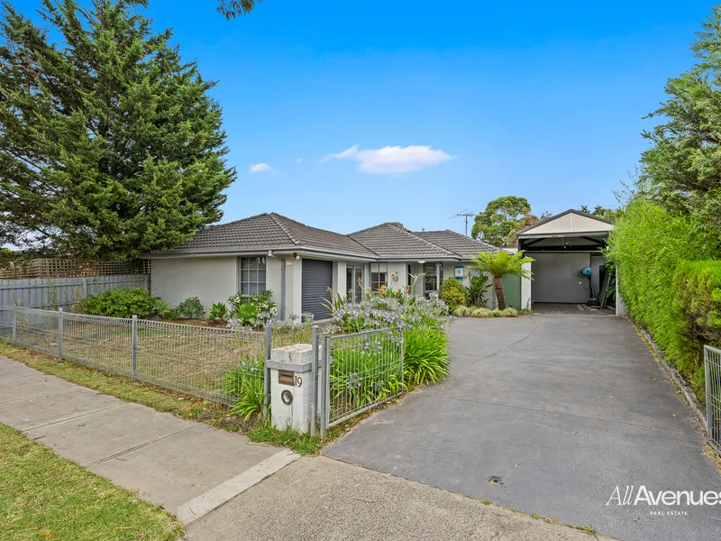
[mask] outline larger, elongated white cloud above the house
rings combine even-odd
[[[330,160],[356,160],[359,171],[382,175],[422,170],[451,159],[452,156],[444,151],[433,150],[430,146],[387,146],[360,151],[356,144],[345,151],[324,156],[321,163]]]

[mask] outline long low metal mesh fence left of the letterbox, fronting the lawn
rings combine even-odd
[[[268,382],[269,341],[253,331],[0,307],[0,338],[226,405]]]

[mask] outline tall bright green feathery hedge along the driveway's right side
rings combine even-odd
[[[608,240],[607,256],[618,268],[629,313],[698,392],[704,388],[702,344],[692,336],[689,318],[708,301],[701,300],[700,288],[691,293],[685,284],[698,280],[697,269],[705,275],[700,269],[713,263],[705,260],[715,253],[718,239],[703,223],[643,199],[626,207]]]

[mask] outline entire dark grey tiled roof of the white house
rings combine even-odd
[[[355,233],[340,234],[310,227],[276,213],[266,213],[228,224],[211,225],[198,231],[187,243],[162,253],[265,252],[281,248],[306,248],[372,259],[468,259],[478,252],[497,250],[488,243],[450,230],[414,233],[403,225],[388,222]]]

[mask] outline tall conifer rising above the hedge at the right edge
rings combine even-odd
[[[643,133],[653,146],[643,152],[640,184],[721,233],[721,6],[691,49],[698,63],[669,79],[669,99],[649,115],[662,123]]]

